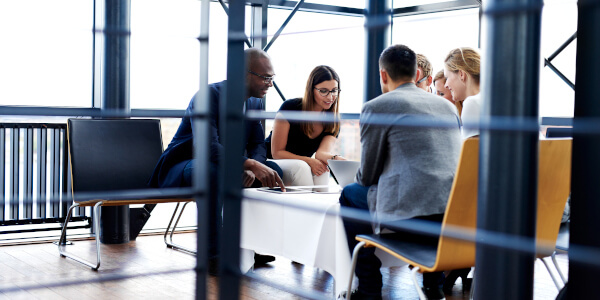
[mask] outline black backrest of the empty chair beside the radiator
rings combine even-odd
[[[162,154],[159,120],[70,119],[67,134],[74,200],[77,192],[148,188]]]

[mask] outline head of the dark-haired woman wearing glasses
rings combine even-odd
[[[326,111],[339,114],[340,77],[335,70],[329,66],[315,67],[306,81],[306,90],[302,98],[303,111]],[[339,123],[323,124],[324,131],[336,133],[339,131]],[[312,124],[303,123],[302,129],[308,136],[312,134]]]

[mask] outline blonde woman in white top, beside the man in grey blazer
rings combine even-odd
[[[472,48],[456,48],[444,60],[446,87],[458,109],[463,124],[477,124],[481,108],[479,70],[481,56]],[[479,135],[479,128],[463,127],[463,139]]]

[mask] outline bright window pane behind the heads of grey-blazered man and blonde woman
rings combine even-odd
[[[449,34],[446,28],[460,28]],[[465,9],[394,18],[392,43],[404,44],[423,54],[433,66],[433,74],[444,68],[444,59],[457,47],[478,48],[479,9]]]

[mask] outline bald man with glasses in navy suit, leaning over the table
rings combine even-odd
[[[275,73],[271,64],[271,59],[266,52],[250,48],[244,52],[246,56],[246,97],[244,109],[263,110],[264,104],[262,98],[273,86]],[[212,258],[218,257],[217,228],[220,228],[221,208],[218,207],[216,192],[214,187],[218,186],[217,170],[220,162],[223,160],[223,145],[220,140],[219,130],[219,101],[221,93],[224,91],[226,81],[212,83],[209,85],[209,99],[200,99],[200,101],[210,101],[210,136],[202,133],[194,133],[193,124],[196,120],[191,118],[194,111],[194,97],[186,109],[185,116],[182,118],[175,136],[169,143],[167,149],[161,155],[148,185],[152,187],[186,187],[192,185],[192,174],[194,173],[194,138],[201,139],[199,142],[210,142],[210,191],[211,218],[209,220],[210,245],[209,255]],[[196,136],[198,135],[198,136]],[[265,133],[260,120],[247,120],[245,123],[245,143],[243,165],[244,187],[276,187],[279,186],[285,190],[281,180],[282,171],[279,166],[267,161],[267,150],[265,147]],[[259,256],[258,263],[264,263],[274,260],[273,257]],[[209,266],[210,267],[210,266]],[[210,271],[210,270],[209,270]]]

